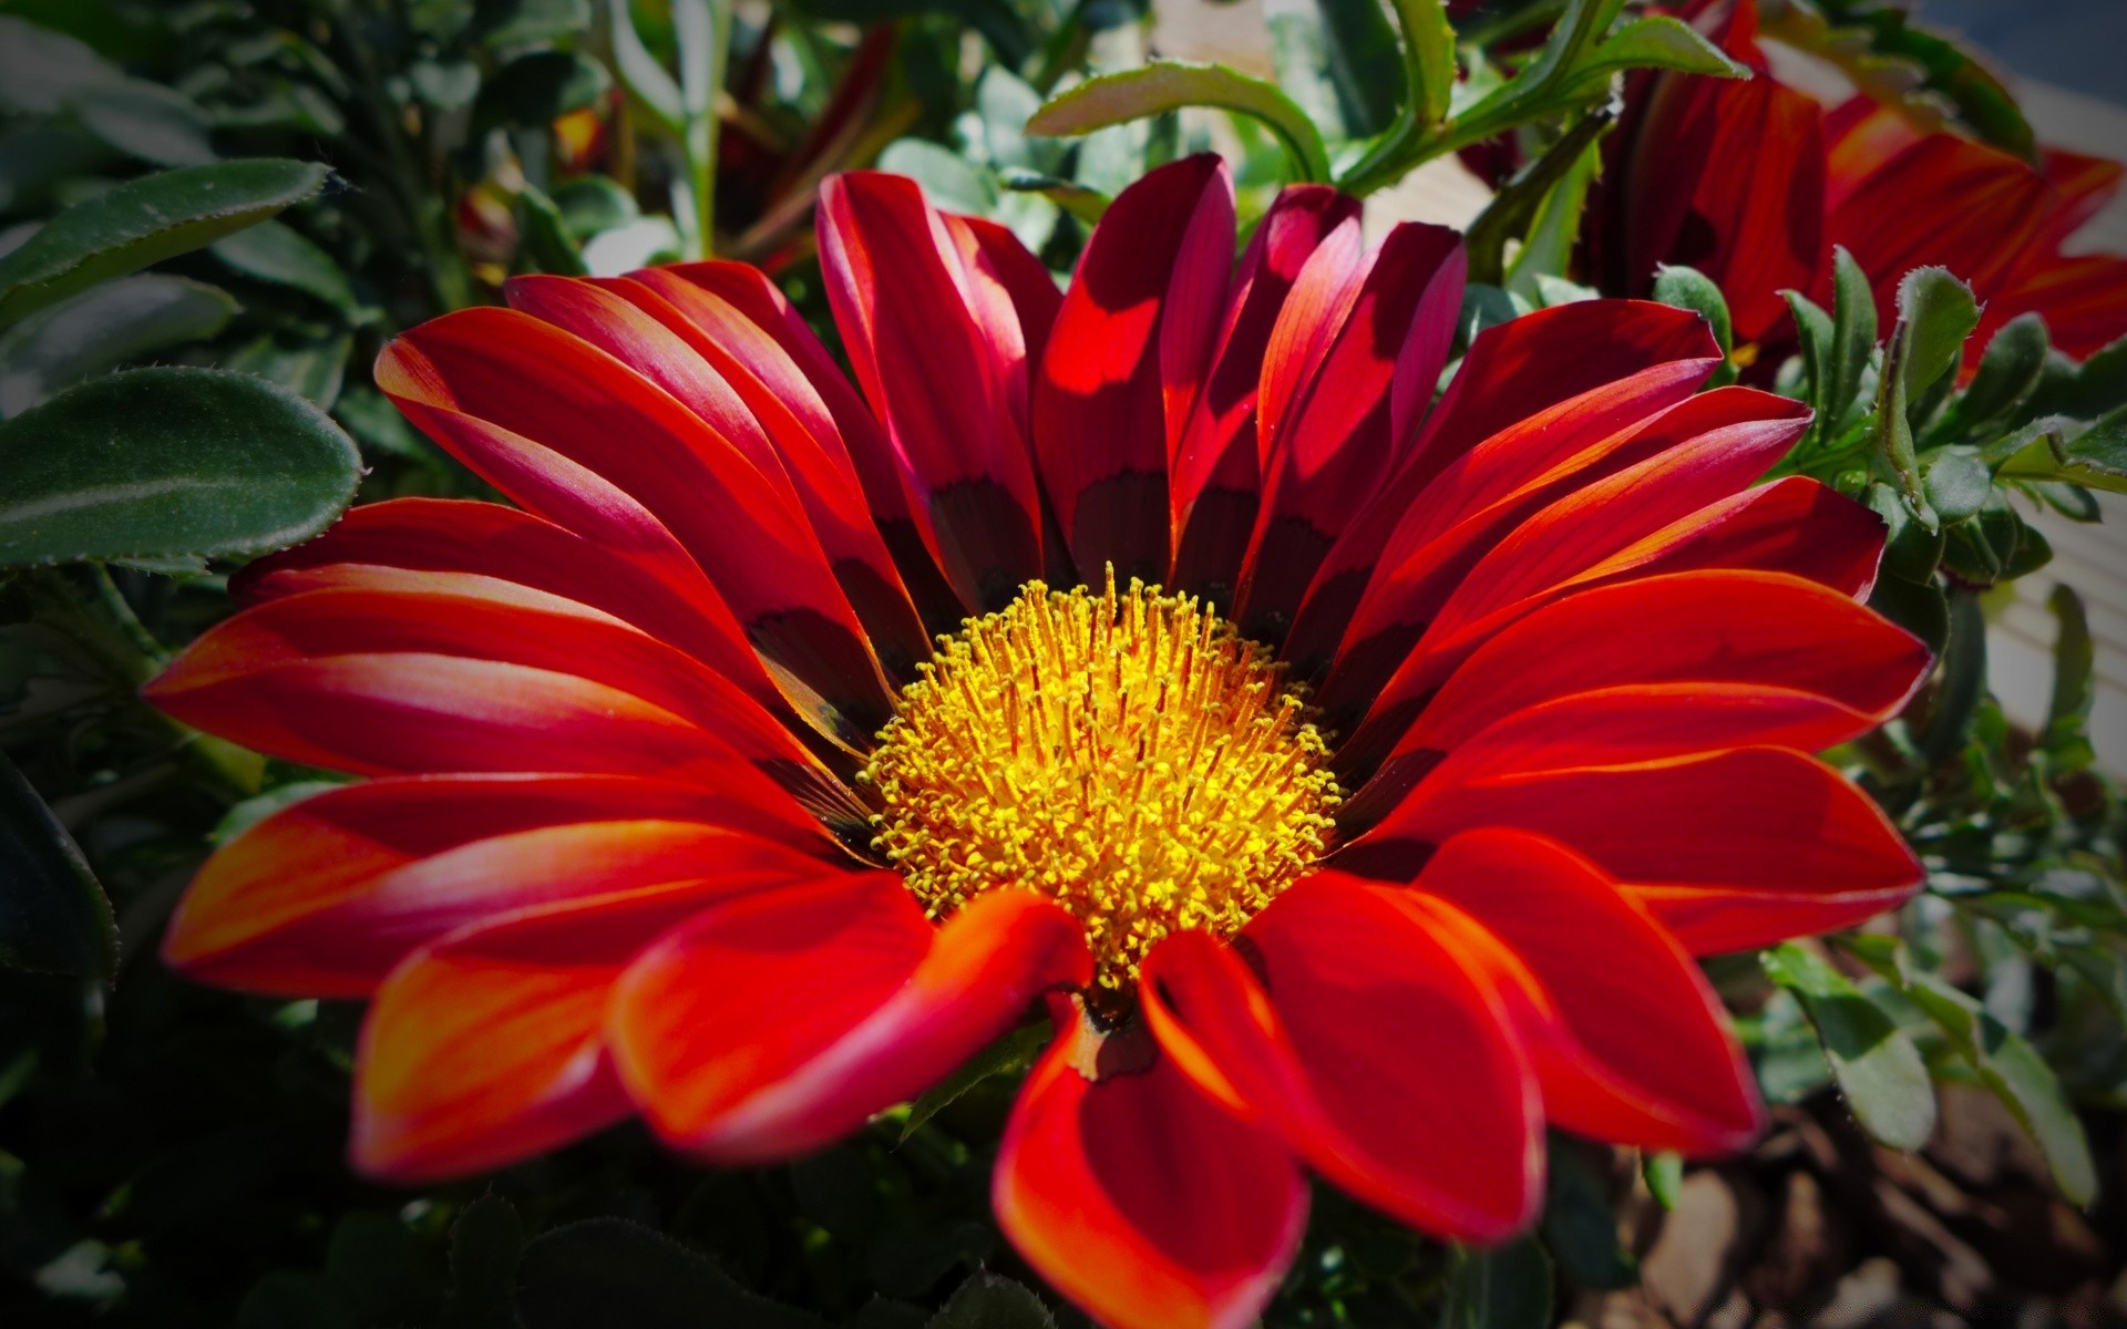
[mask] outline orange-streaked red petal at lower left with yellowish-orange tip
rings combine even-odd
[[[642,946],[700,906],[681,887],[457,931],[391,972],[355,1053],[357,1170],[400,1182],[515,1163],[627,1116],[600,1046]]]

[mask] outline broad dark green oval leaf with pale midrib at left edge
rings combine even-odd
[[[217,370],[132,370],[0,423],[0,566],[234,555],[325,529],[355,444],[291,391]]]

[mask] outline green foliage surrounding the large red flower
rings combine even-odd
[[[1914,115],[2029,153],[2008,94],[1904,15],[1768,0],[1768,28]],[[485,498],[368,378],[396,332],[510,274],[757,262],[821,323],[815,185],[883,166],[1068,272],[1108,200],[1219,147],[1255,219],[1512,136],[1470,232],[1459,338],[1587,298],[1574,236],[1629,70],[1736,77],[1638,0],[1278,0],[1276,79],[1149,57],[1140,0],[0,2],[0,1310],[9,1323],[998,1329],[1076,1325],[1000,1240],[989,1163],[1040,1040],[1012,1036],[855,1140],[700,1172],[623,1127],[479,1182],[389,1191],[342,1163],[359,1010],[177,980],[155,942],[206,848],[330,776],[143,706],[228,612],[230,572],[349,502]],[[972,49],[981,57],[972,57]],[[1799,349],[1744,364],[1816,419],[1778,474],[1889,529],[1872,604],[1940,666],[1836,757],[1927,863],[1908,910],[1710,965],[1768,1099],[1844,1095],[1912,1148],[1929,1087],[1978,1084],[2063,1195],[2080,1110],[2127,1108],[2121,797],[2095,770],[2082,602],[2061,589],[2046,725],[1987,687],[1984,610],[2127,487],[2127,342],[2074,364],[2016,319],[1976,357],[1957,274],[1880,327],[1844,253]],[[825,325],[823,325],[823,332]],[[1972,364],[1970,374],[1959,366]],[[1638,1278],[1623,1193],[1676,1157],[1553,1140],[1542,1227],[1421,1240],[1334,1191],[1272,1325],[1553,1323]]]

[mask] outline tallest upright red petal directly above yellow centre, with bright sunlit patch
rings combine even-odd
[[[1078,574],[1159,581],[1168,455],[1212,353],[1234,266],[1234,181],[1215,155],[1153,170],[1093,228],[1034,385],[1042,483]]]

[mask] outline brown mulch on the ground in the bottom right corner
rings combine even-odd
[[[2095,1121],[2101,1193],[2061,1199],[1999,1101],[1944,1087],[1925,1150],[1872,1144],[1833,1095],[1774,1110],[1748,1159],[1685,1174],[1674,1212],[1627,1201],[1640,1286],[1587,1293],[1587,1329],[2127,1327],[2127,1148]],[[1619,1180],[1636,1180],[1621,1170]]]

